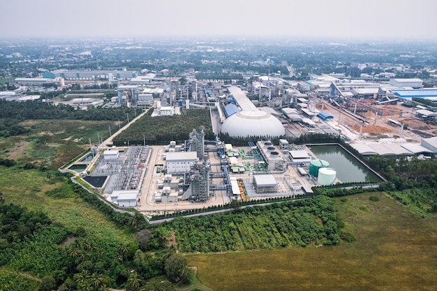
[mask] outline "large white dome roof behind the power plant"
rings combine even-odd
[[[286,134],[286,129],[268,112],[244,110],[226,119],[221,125],[221,133],[228,133],[231,137],[279,137]]]

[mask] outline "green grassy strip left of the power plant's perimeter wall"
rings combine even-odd
[[[99,211],[85,204],[69,185],[52,183],[44,172],[1,166],[0,185],[6,203],[19,204],[31,211],[41,210],[54,222],[71,230],[84,227],[89,234],[100,239],[119,243],[133,241],[131,234],[124,233]],[[47,191],[52,192],[47,195]]]

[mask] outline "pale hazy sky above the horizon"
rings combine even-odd
[[[437,40],[436,0],[8,0],[0,38]]]

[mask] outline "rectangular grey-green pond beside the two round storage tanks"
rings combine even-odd
[[[309,149],[316,156],[315,158],[327,161],[329,167],[336,170],[337,179],[343,183],[381,181],[376,174],[338,145],[317,145]]]

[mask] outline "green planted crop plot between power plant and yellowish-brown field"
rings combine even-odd
[[[172,227],[184,252],[242,251],[339,243],[328,197],[247,207],[216,216],[175,218]]]

